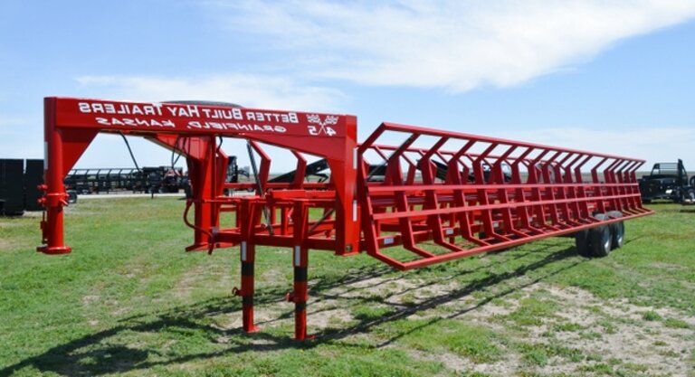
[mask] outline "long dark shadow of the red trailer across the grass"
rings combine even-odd
[[[429,322],[417,328],[411,328],[407,332],[401,332],[387,338],[383,343],[377,344],[376,347],[392,344],[399,338],[410,334],[423,327],[434,325],[446,318],[462,316],[466,313],[485,306],[490,301],[505,297],[519,289],[532,286],[539,281],[550,278],[558,273],[571,269],[582,263],[586,259],[576,259],[571,263],[563,263],[555,269],[548,270],[542,273],[538,278],[528,279],[523,284],[507,287],[500,285],[506,280],[519,278],[533,271],[552,266],[554,263],[574,257],[576,255],[574,248],[566,248],[552,253],[547,253],[548,249],[554,246],[546,246],[528,252],[518,252],[507,259],[500,259],[493,263],[481,266],[475,269],[463,270],[455,272],[453,277],[468,275],[476,271],[490,269],[496,265],[508,263],[513,259],[521,259],[532,257],[535,260],[523,264],[520,267],[500,273],[488,273],[485,277],[476,278],[469,281],[466,285],[456,288],[452,291],[442,293],[433,297],[424,299],[421,302],[408,305],[395,305],[388,301],[388,297],[402,295],[408,290],[422,289],[424,287],[433,286],[442,282],[442,277],[428,278],[422,284],[416,287],[407,287],[398,290],[397,292],[389,292],[388,294],[379,297],[343,297],[344,294],[351,290],[365,290],[369,292],[370,288],[397,278],[387,278],[385,275],[392,274],[393,269],[386,268],[383,265],[371,266],[367,269],[359,269],[348,271],[348,274],[340,278],[324,278],[317,281],[311,287],[311,294],[314,299],[313,303],[327,299],[341,299],[338,301],[339,306],[350,307],[363,303],[374,303],[386,306],[392,306],[393,311],[385,316],[369,317],[357,316],[354,321],[349,322],[341,328],[327,328],[317,334],[315,340],[306,342],[296,342],[290,339],[285,333],[280,335],[271,334],[271,332],[259,332],[254,334],[243,334],[241,329],[224,329],[220,326],[211,324],[211,321],[205,321],[205,318],[218,316],[226,313],[234,313],[241,310],[240,299],[230,299],[229,297],[216,297],[214,299],[195,303],[192,306],[179,306],[160,313],[152,313],[144,316],[132,316],[120,321],[121,325],[117,325],[108,330],[99,333],[86,335],[75,339],[66,344],[61,344],[46,352],[27,358],[24,361],[9,365],[0,370],[0,377],[13,375],[14,372],[23,370],[24,368],[33,368],[41,372],[54,372],[65,376],[85,376],[85,375],[102,375],[109,373],[129,372],[135,370],[147,370],[148,368],[167,366],[169,364],[187,363],[196,360],[205,360],[214,357],[225,355],[233,355],[234,353],[252,352],[270,352],[290,348],[309,349],[320,344],[333,344],[351,335],[359,333],[369,333],[378,325],[385,324],[389,321],[405,319],[408,316],[413,316],[417,312],[432,309],[449,302],[456,301],[462,297],[471,295],[471,293],[486,289],[490,291],[490,295],[482,297],[477,304],[467,307],[458,312],[450,313],[446,317],[432,318]],[[518,255],[516,255],[518,254]],[[385,277],[382,279],[382,277]],[[340,294],[334,295],[330,290],[337,287],[345,287],[349,284],[364,282],[370,279],[367,286],[358,288],[349,287],[342,290]],[[418,280],[421,280],[418,278]],[[500,285],[500,287],[497,287]],[[496,289],[499,288],[499,289]],[[281,296],[286,287],[271,287],[270,289],[259,289],[256,296],[258,305],[268,304],[277,301],[277,297]],[[494,291],[494,292],[493,292]],[[367,296],[367,295],[365,295]],[[309,302],[309,307],[312,302]],[[311,315],[317,312],[309,313],[309,325]],[[282,314],[278,319],[267,321],[266,324],[280,321],[293,316],[292,312]],[[172,330],[176,329],[176,330]],[[146,335],[153,333],[172,332],[176,331],[181,334],[203,335],[204,342],[207,342],[206,347],[214,348],[205,352],[184,352],[183,354],[175,354],[170,351],[165,351],[161,345],[148,344],[147,346],[139,346],[138,341],[129,342],[128,336]],[[220,338],[224,338],[225,342],[221,344]],[[383,338],[383,335],[381,336]],[[135,343],[136,345],[132,345]],[[350,347],[347,342],[340,343],[340,346]],[[357,345],[355,345],[357,346]],[[359,347],[364,347],[359,345]]]

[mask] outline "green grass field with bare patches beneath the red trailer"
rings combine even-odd
[[[39,217],[0,219],[0,377],[695,376],[695,208],[653,204],[605,259],[566,238],[406,273],[311,251],[316,339],[295,342],[290,250],[259,250],[243,334],[238,249],[185,253],[183,207],[71,205],[63,256],[34,251]]]

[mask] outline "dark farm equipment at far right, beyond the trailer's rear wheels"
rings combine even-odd
[[[681,203],[695,199],[695,176],[688,179],[688,172],[681,159],[676,163],[654,164],[652,172],[640,178],[639,185],[643,203],[660,199]]]

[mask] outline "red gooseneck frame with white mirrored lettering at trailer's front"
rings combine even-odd
[[[172,146],[176,137],[188,137],[195,143],[204,143],[194,156],[186,151],[189,170],[197,175],[196,223],[202,228],[215,226],[214,207],[206,208],[219,194],[221,185],[217,169],[223,161],[211,152],[212,137],[241,137],[272,146],[281,146],[295,152],[328,159],[336,190],[336,211],[348,221],[340,221],[336,233],[341,240],[338,254],[357,250],[359,231],[355,198],[357,147],[357,118],[348,115],[278,111],[222,106],[123,102],[101,99],[46,98],[45,141],[46,182],[43,187],[47,217],[43,221],[43,245],[38,250],[46,253],[66,253],[62,230],[62,207],[65,189],[62,178],[67,174],[93,137],[100,132],[123,133],[149,137],[160,145]],[[200,155],[200,154],[198,154]],[[220,156],[222,157],[222,156]],[[212,161],[211,161],[212,159]],[[215,181],[216,180],[216,181]],[[193,181],[193,180],[192,180]],[[207,219],[210,219],[208,221]],[[198,232],[194,246],[205,244],[203,233]]]

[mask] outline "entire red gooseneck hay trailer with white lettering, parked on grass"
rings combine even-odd
[[[100,132],[145,137],[186,156],[193,197],[185,220],[194,233],[186,250],[239,246],[242,281],[235,292],[247,332],[255,330],[256,246],[292,250],[288,298],[295,303],[295,337],[304,339],[309,250],[364,252],[395,269],[414,269],[575,235],[579,253],[604,256],[621,246],[624,220],[651,213],[635,177],[643,161],[633,158],[393,123],[382,123],[358,144],[357,118],[348,115],[66,98],[46,98],[44,106],[38,250],[71,251],[63,240],[63,178],[93,138]],[[245,139],[260,156],[254,195],[224,196],[224,189],[250,184],[225,182],[223,137]],[[271,157],[262,145],[296,157],[291,182],[269,182]],[[304,181],[305,155],[326,159],[327,182]],[[221,218],[232,225],[221,226]]]

